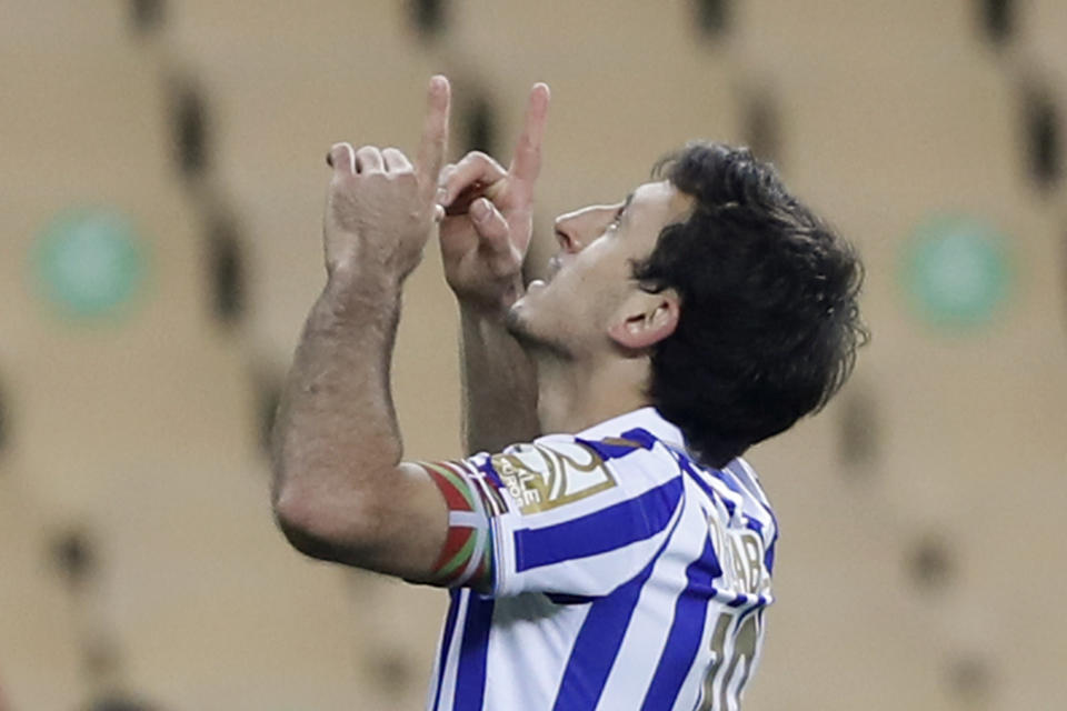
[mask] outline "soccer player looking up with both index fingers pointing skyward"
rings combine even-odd
[[[558,218],[549,278],[525,287],[548,88],[507,169],[442,169],[443,78],[428,104],[415,164],[329,152],[328,278],[273,433],[283,532],[450,589],[429,709],[737,709],[778,538],[740,454],[847,377],[857,258],[769,166],[695,142],[617,204]],[[468,457],[405,462],[389,364],[436,223]]]

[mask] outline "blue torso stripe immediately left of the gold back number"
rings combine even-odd
[[[686,569],[688,583],[675,602],[675,619],[670,623],[667,644],[659,655],[656,674],[645,694],[641,711],[658,711],[675,705],[704,637],[708,602],[715,594],[711,582],[721,574],[722,568],[709,538],[704,544],[700,558],[689,563]]]

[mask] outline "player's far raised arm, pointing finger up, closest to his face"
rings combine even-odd
[[[459,301],[463,440],[468,453],[499,451],[540,433],[532,362],[507,332],[522,296],[534,186],[541,168],[548,87],[530,91],[522,134],[508,170],[481,152],[441,172],[438,201],[445,276]]]

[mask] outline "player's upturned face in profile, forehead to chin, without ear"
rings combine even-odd
[[[638,289],[634,262],[648,257],[668,224],[686,218],[692,198],[669,181],[638,187],[626,200],[556,219],[560,249],[546,281],[530,283],[509,313],[527,342],[574,358],[611,348],[608,329]]]

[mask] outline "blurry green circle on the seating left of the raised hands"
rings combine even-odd
[[[43,296],[76,318],[113,313],[144,278],[144,256],[132,223],[104,208],[58,214],[41,233],[33,262]]]

